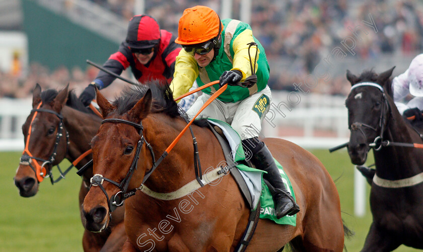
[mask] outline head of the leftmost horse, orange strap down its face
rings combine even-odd
[[[39,183],[66,155],[67,132],[60,112],[67,96],[68,85],[60,92],[41,92],[37,84],[33,91],[32,110],[22,126],[25,149],[14,178],[23,197],[34,196]]]

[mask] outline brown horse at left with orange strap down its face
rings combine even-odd
[[[15,185],[23,197],[31,197],[38,192],[40,182],[50,174],[53,165],[59,164],[64,158],[74,162],[89,150],[91,138],[102,120],[89,113],[75,94],[68,92],[67,87],[60,92],[51,89],[41,92],[37,84],[32,107],[33,110],[22,126],[25,151],[15,176]],[[82,158],[76,167],[80,169],[91,157],[90,154]],[[92,176],[92,169],[88,169],[82,176],[80,208]],[[123,211],[113,213],[111,228],[104,233],[85,230],[84,251],[99,251],[101,248],[103,251],[119,251],[126,239],[123,214]]]

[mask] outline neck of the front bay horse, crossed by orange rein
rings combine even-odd
[[[153,114],[143,120],[143,125],[144,136],[152,145],[157,160],[186,126],[186,122],[181,118]],[[191,127],[197,139],[202,172],[218,164],[213,160],[225,160],[219,142],[209,129],[195,125]],[[187,130],[146,181],[146,186],[156,192],[173,192],[195,180],[193,153],[192,136]],[[151,158],[150,151],[147,150],[146,155]]]

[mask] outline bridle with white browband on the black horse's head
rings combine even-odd
[[[373,83],[373,82],[357,83],[357,84],[355,84],[351,87],[350,91],[354,90],[355,88],[363,87],[363,86],[375,87],[382,92],[382,109],[381,109],[381,113],[380,113],[380,116],[379,116],[379,123],[378,123],[379,128],[380,128],[380,133],[379,133],[379,136],[377,136],[372,143],[368,143],[369,146],[374,148],[375,150],[380,150],[383,146],[383,144],[382,144],[383,143],[383,133],[385,131],[386,120],[387,120],[384,115],[385,115],[385,112],[390,109],[389,104],[388,104],[388,100],[386,99],[386,95],[385,95],[385,92],[383,91],[382,86],[380,86],[377,83]],[[365,139],[367,139],[363,128],[369,128],[369,129],[375,131],[376,134],[377,134],[377,131],[378,131],[375,127],[368,125],[366,123],[362,123],[362,122],[354,122],[349,126],[350,130],[360,130],[360,132],[363,134]]]

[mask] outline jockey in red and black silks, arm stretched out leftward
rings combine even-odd
[[[175,59],[181,47],[176,44],[176,37],[166,30],[160,30],[156,20],[147,15],[132,17],[128,24],[126,39],[116,53],[110,55],[103,67],[120,75],[131,67],[135,78],[140,82],[153,79],[169,84],[175,71]],[[88,106],[95,98],[94,85],[104,89],[116,77],[100,71],[97,77],[80,95],[80,100]]]

